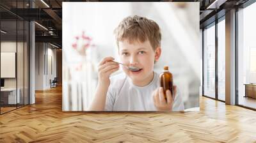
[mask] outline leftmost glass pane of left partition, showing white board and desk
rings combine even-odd
[[[17,21],[1,21],[1,114],[16,109],[17,92]],[[18,95],[18,96],[17,96]]]

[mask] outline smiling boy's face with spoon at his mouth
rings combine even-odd
[[[119,41],[118,52],[122,63],[140,68],[138,72],[132,72],[123,66],[124,72],[136,86],[145,86],[152,80],[154,62],[158,61],[161,54],[160,47],[154,51],[148,40],[143,43],[140,41],[129,43],[128,40],[124,40]]]

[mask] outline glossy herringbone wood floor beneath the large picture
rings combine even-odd
[[[0,116],[0,142],[256,142],[256,112],[200,97],[200,112],[62,112],[61,88]]]

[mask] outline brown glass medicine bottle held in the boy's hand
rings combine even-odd
[[[173,76],[169,72],[168,66],[164,66],[164,71],[160,73],[160,86],[164,88],[164,98],[166,99],[166,91],[169,89],[173,96]]]

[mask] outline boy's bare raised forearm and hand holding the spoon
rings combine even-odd
[[[105,57],[99,64],[99,82],[92,104],[89,108],[90,111],[103,111],[105,108],[106,95],[110,85],[109,76],[119,69],[119,64],[113,62],[113,60],[113,57]]]

